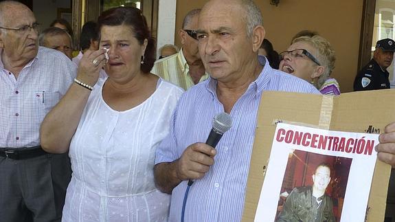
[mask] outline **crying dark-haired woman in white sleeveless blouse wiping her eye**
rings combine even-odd
[[[155,149],[183,92],[150,74],[155,46],[137,8],[102,12],[100,49],[84,53],[77,78],[41,126],[41,146],[69,151],[73,175],[63,221],[166,221]],[[99,79],[104,67],[109,78]]]

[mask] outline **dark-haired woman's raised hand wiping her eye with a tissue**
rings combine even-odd
[[[93,87],[99,78],[100,69],[106,65],[106,49],[97,51],[87,50],[80,60],[78,66],[77,79]]]

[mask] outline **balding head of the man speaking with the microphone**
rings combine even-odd
[[[252,1],[212,0],[199,14],[199,53],[207,72],[218,82],[236,85],[239,79],[256,78],[262,70],[258,49],[264,28],[260,16],[250,15],[260,14],[258,8],[256,13],[247,13],[251,5],[256,8]]]

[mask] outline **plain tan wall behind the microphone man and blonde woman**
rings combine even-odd
[[[176,40],[180,46],[178,30],[183,16],[194,8],[201,8],[205,0],[177,1]],[[256,1],[262,10],[267,38],[275,50],[282,52],[291,38],[300,30],[315,30],[327,38],[336,51],[336,68],[332,73],[340,84],[341,92],[352,91],[357,74],[359,34],[363,1],[361,0],[280,0],[270,5],[269,0]]]

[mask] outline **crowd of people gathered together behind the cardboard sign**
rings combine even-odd
[[[253,1],[207,1],[156,60],[142,12],[111,8],[72,56],[67,22],[39,33],[26,5],[1,1],[1,221],[240,221],[262,93],[340,93],[325,38],[304,30],[278,54],[262,23]],[[389,88],[376,72],[388,78],[394,51],[378,41],[355,89]],[[221,112],[233,127],[215,149]],[[395,166],[395,122],[379,141]]]

